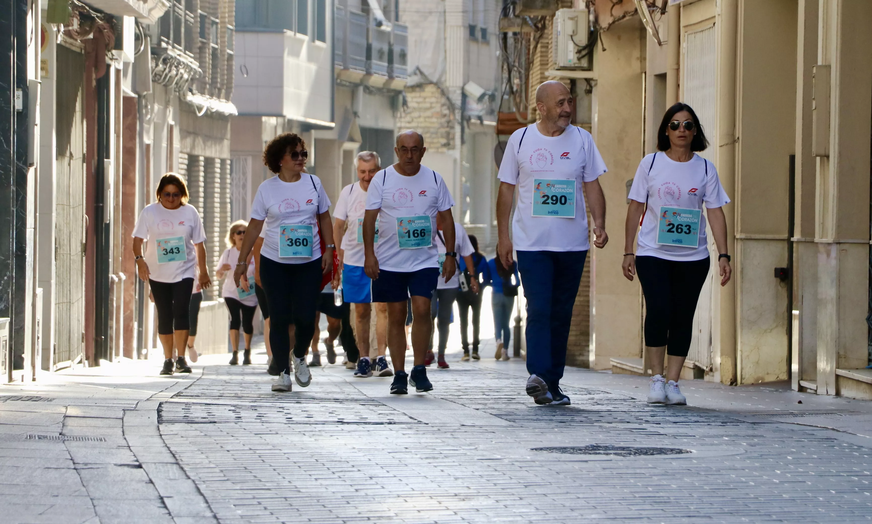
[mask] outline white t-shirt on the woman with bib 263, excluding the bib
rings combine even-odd
[[[676,261],[702,260],[709,255],[705,213],[699,215],[697,248],[662,245],[657,243],[660,207],[702,210],[703,202],[705,208],[709,209],[720,208],[730,202],[730,197],[720,185],[714,164],[695,153],[687,162],[676,162],[662,152],[645,155],[636,170],[629,198],[647,204],[636,255]]]

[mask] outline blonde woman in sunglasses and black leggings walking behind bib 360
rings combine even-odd
[[[239,259],[239,248],[242,248],[242,238],[245,235],[245,229],[248,227],[246,221],[235,221],[230,224],[230,230],[227,233],[227,249],[221,253],[221,258],[218,259],[218,269],[215,270],[215,276],[219,279],[224,279],[224,285],[221,287],[221,296],[224,297],[224,305],[230,313],[230,344],[233,346],[233,357],[230,357],[230,365],[239,364],[239,328],[242,327],[242,332],[245,333],[245,352],[242,355],[242,365],[251,364],[251,335],[255,332],[255,325],[252,322],[255,318],[257,310],[257,296],[255,295],[254,286],[249,287],[246,291],[242,288],[237,288],[233,281],[233,265]],[[253,256],[249,256],[249,277],[255,276],[255,261]]]

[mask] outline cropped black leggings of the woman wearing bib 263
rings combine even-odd
[[[645,345],[666,346],[666,354],[687,357],[693,315],[711,261],[671,261],[637,256],[636,272],[645,296]]]

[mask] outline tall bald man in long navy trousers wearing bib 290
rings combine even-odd
[[[518,253],[527,298],[527,393],[536,404],[565,405],[569,397],[560,390],[560,379],[590,248],[584,194],[594,221],[594,245],[603,248],[609,235],[597,178],[607,170],[590,133],[569,125],[575,107],[565,85],[554,80],[539,85],[536,109],[540,120],[512,133],[502,157],[497,255],[511,268],[513,249]],[[515,186],[518,205],[509,237]]]

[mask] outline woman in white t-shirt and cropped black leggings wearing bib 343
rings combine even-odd
[[[142,209],[133,228],[133,255],[140,278],[151,288],[158,312],[158,337],[166,358],[160,374],[172,375],[174,369],[190,373],[185,350],[194,278],[199,279],[203,288],[212,285],[203,247],[206,232],[196,208],[187,204],[187,186],[181,176],[163,175],[157,198],[158,201]],[[179,351],[175,363],[174,349]]]

